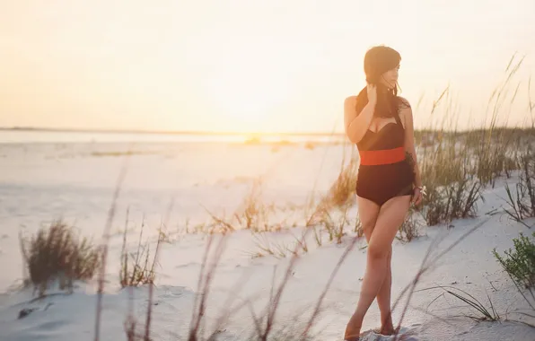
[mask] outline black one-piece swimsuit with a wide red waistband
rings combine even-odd
[[[414,192],[414,171],[405,157],[405,129],[397,113],[394,118],[396,123],[387,123],[378,132],[368,129],[356,144],[361,154],[356,195],[380,206]]]

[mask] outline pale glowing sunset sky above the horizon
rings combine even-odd
[[[533,0],[0,0],[0,127],[342,131],[374,45],[401,54],[417,128],[483,124],[524,57],[499,110],[520,125],[533,13]]]

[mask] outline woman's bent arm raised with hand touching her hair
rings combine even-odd
[[[373,119],[373,111],[377,103],[377,92],[374,85],[368,85],[368,103],[360,112],[357,112],[356,96],[347,97],[344,101],[344,124],[349,141],[356,144],[366,134]],[[361,106],[358,106],[362,108]]]

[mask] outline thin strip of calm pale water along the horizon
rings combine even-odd
[[[261,142],[332,142],[341,141],[341,136],[262,136]],[[243,143],[250,136],[218,136],[218,135],[187,135],[187,134],[136,134],[136,133],[95,133],[95,132],[56,132],[0,130],[0,144],[21,143],[105,143],[105,142],[171,142],[171,143],[206,143],[236,142]]]

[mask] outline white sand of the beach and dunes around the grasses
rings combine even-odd
[[[155,340],[185,339],[207,240],[206,234],[179,233],[185,228],[185,222],[189,220],[190,228],[206,222],[203,205],[210,212],[218,215],[226,212],[230,216],[249,192],[251,180],[259,177],[264,180],[262,199],[266,203],[303,205],[312,189],[320,195],[329,188],[338,175],[344,153],[340,145],[323,145],[308,150],[303,144],[281,146],[276,152],[273,145],[229,143],[145,143],[133,149],[136,153],[128,162],[127,179],[112,227],[114,235],[110,241],[107,267],[102,340],[126,339],[123,322],[128,291],[119,290],[118,254],[127,207],[130,207],[131,229],[128,238],[134,248],[143,215],[148,226],[145,233],[154,236],[171,198],[175,197],[167,226],[171,242],[163,244],[161,266],[158,267],[152,336]],[[34,296],[30,290],[10,290],[22,278],[18,233],[21,229],[33,232],[42,223],[61,216],[66,222],[75,223],[83,235],[100,240],[118,173],[125,161],[118,154],[125,151],[127,144],[0,144],[2,341],[93,339],[94,283],[79,284],[72,295],[51,295],[35,302],[31,302]],[[502,319],[510,320],[476,323],[459,317],[476,313],[451,296],[444,295],[434,301],[443,293],[440,289],[417,292],[402,324],[416,333],[417,340],[535,340],[535,328],[513,321],[535,323],[534,319],[514,313],[527,309],[527,303],[491,253],[495,247],[500,252],[512,247],[514,237],[532,230],[511,222],[501,213],[506,205],[503,181],[496,188],[487,188],[484,197],[485,202],[478,203],[477,218],[455,221],[449,229],[443,225],[425,227],[422,230],[425,236],[418,240],[407,244],[399,240],[394,242],[392,298],[395,300],[417,274],[434,240],[442,240],[434,248],[438,252],[479,223],[480,228],[426,273],[417,288],[452,285],[474,295],[490,309],[488,294]],[[487,214],[495,209],[498,214]],[[355,218],[355,211],[353,207],[349,214],[352,218]],[[301,209],[279,212],[271,219],[274,223],[285,219],[285,226],[303,226]],[[535,220],[526,223],[535,224]],[[240,300],[254,300],[254,309],[259,314],[267,303],[275,268],[276,284],[280,283],[290,257],[252,258],[251,255],[259,252],[255,240],[292,246],[294,236],[300,237],[302,233],[303,228],[296,227],[261,237],[249,231],[228,235],[208,297],[208,330],[212,330],[215,318],[224,308],[229,307],[229,294],[236,298],[231,306],[239,304]],[[351,236],[347,235],[342,244],[336,244],[324,234],[324,243],[318,247],[309,235],[308,253],[298,259],[277,310],[279,326],[288,323],[299,326],[300,322],[307,321]],[[365,249],[359,249],[364,246],[364,240],[357,241],[325,297],[324,309],[314,329],[321,333],[320,340],[342,339],[346,321],[355,309],[361,284],[359,278],[364,275]],[[240,290],[233,288],[236,284],[240,284]],[[144,324],[147,290],[137,288],[133,293],[136,315],[140,324]],[[430,302],[433,304],[429,305]],[[17,319],[25,308],[37,310]],[[394,320],[398,321],[399,316],[400,309],[397,308]],[[220,339],[246,339],[252,326],[250,311],[239,310],[226,323]],[[378,327],[379,310],[373,303],[364,319],[364,330]]]

